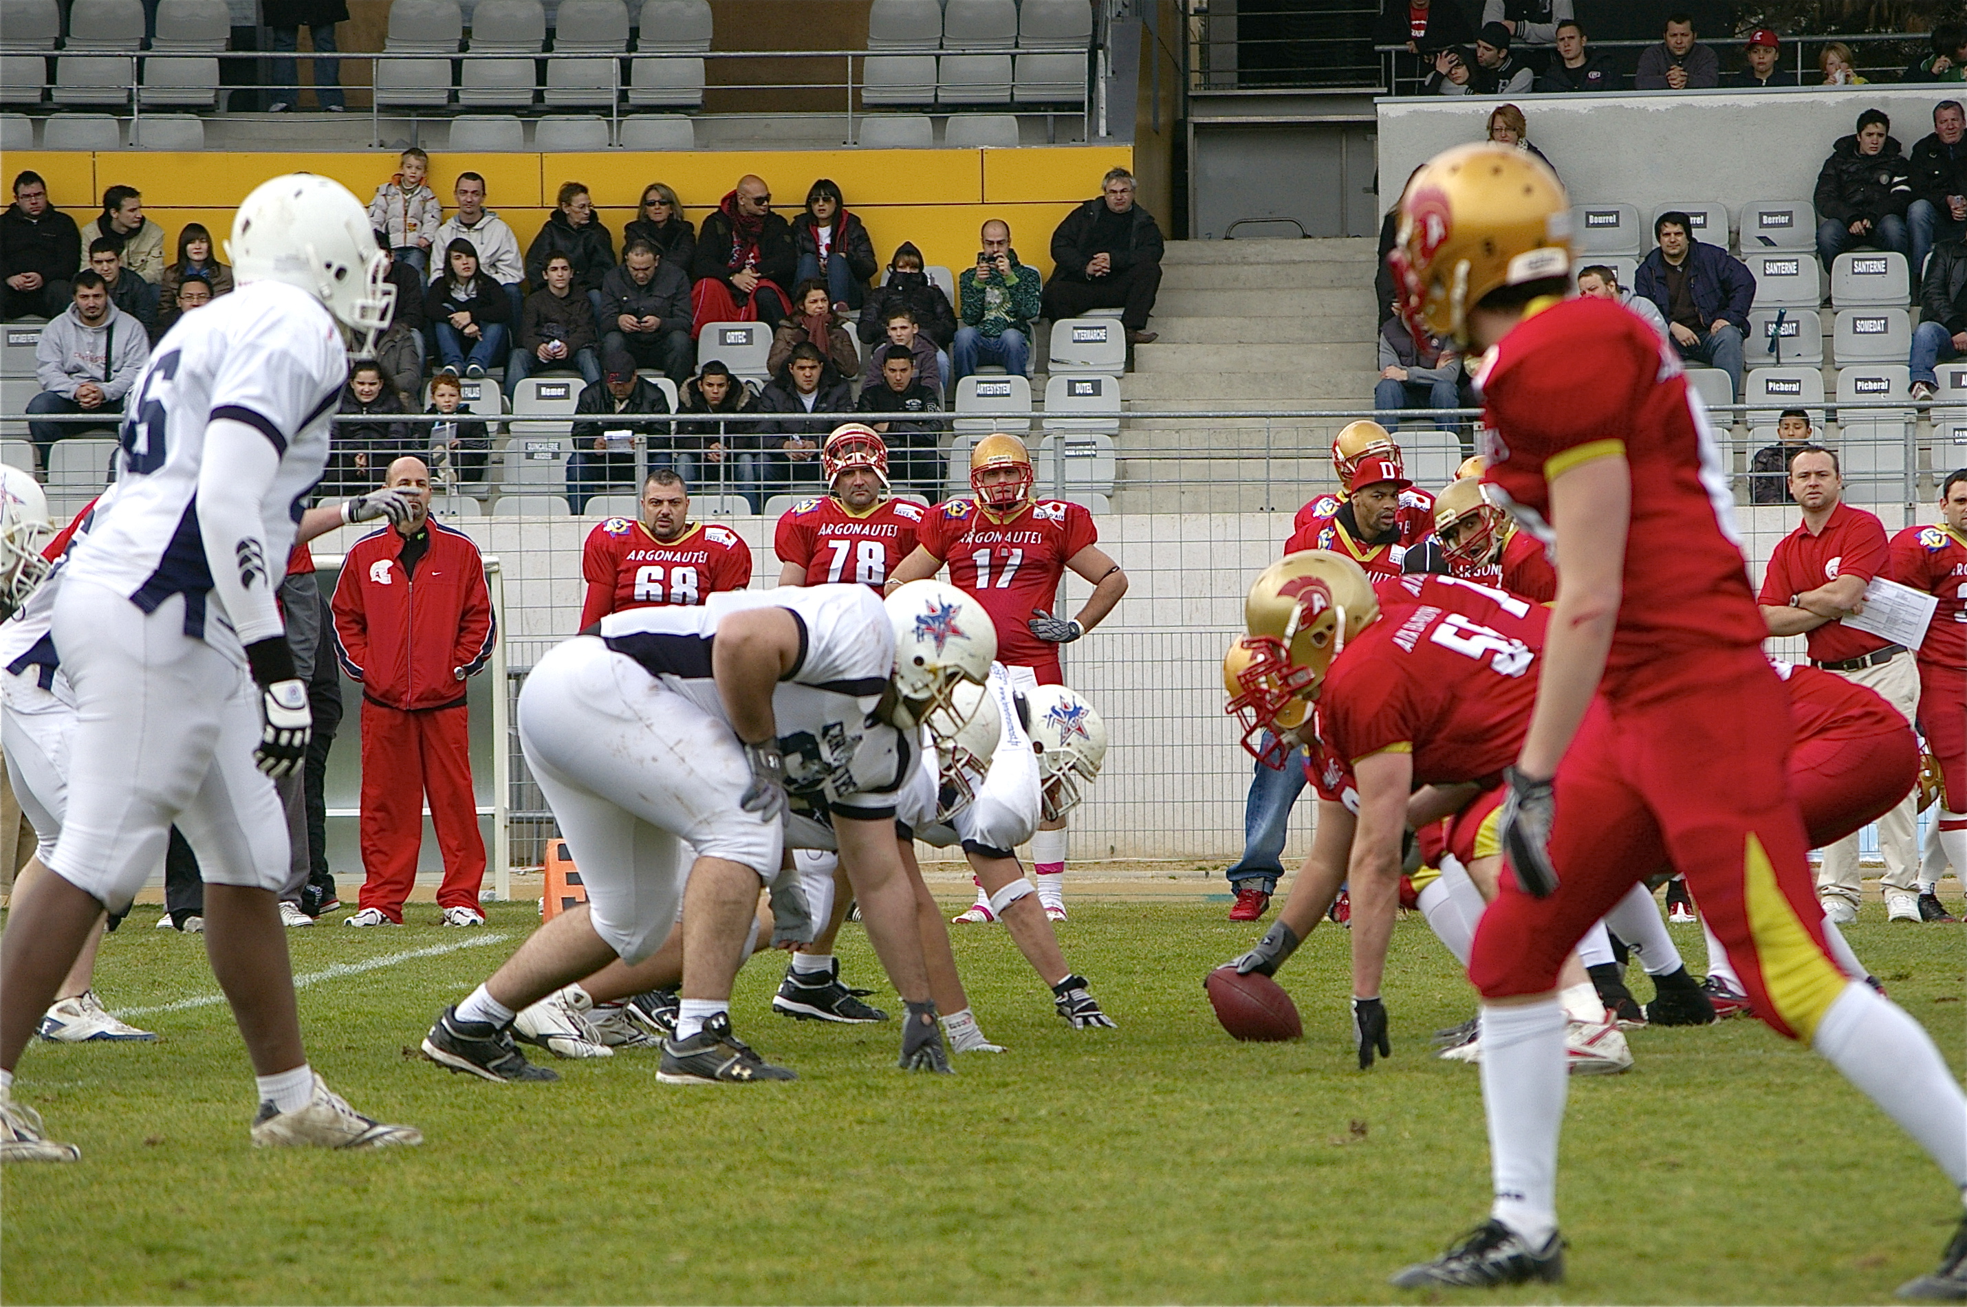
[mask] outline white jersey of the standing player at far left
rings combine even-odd
[[[327,466],[330,415],[346,379],[340,328],[307,291],[254,281],[187,313],[130,387],[116,499],[96,511],[89,540],[69,550],[67,566],[146,613],[183,594],[185,633],[207,641],[222,635],[236,649],[199,537],[205,428],[212,419],[234,419],[279,450],[279,470],[260,505],[260,562],[273,590],[287,574],[295,525]],[[216,611],[207,613],[209,601]]]

